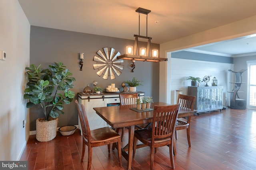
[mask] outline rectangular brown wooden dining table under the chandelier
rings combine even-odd
[[[167,106],[170,104],[163,102],[151,103],[150,108],[154,108],[155,105]],[[132,109],[131,109],[132,108]],[[96,113],[104,119],[111,127],[121,128],[128,127],[129,137],[128,137],[128,153],[124,148],[122,148],[122,156],[128,162],[128,170],[132,168],[132,149],[134,141],[134,127],[135,125],[142,125],[147,123],[152,123],[154,110],[137,112],[134,111],[136,105],[124,105],[124,106],[109,106],[109,107],[94,107],[93,109]],[[136,109],[135,109],[136,110]],[[178,112],[179,117],[187,117],[194,115],[196,110],[191,110],[185,107],[180,107]]]

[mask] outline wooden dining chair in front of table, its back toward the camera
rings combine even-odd
[[[154,163],[154,148],[165,145],[169,146],[171,166],[172,169],[175,168],[173,158],[173,139],[179,108],[180,104],[154,106],[152,127],[134,131],[133,158],[136,153],[137,141],[139,140],[150,147],[151,170],[153,170]]]

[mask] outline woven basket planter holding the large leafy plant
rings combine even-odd
[[[54,139],[57,135],[56,128],[58,118],[44,121],[44,118],[36,119],[36,139],[40,142],[47,142]]]

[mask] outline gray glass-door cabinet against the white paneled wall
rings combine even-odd
[[[196,96],[197,113],[223,109],[223,86],[188,87],[188,95]]]

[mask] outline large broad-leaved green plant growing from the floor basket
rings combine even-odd
[[[41,64],[36,67],[31,64],[26,67],[28,75],[27,88],[25,89],[24,99],[28,99],[27,108],[40,105],[45,116],[56,118],[62,111],[64,104],[70,104],[75,94],[70,91],[73,82],[76,80],[72,73],[66,69],[63,63],[49,65],[50,69],[42,69]]]

